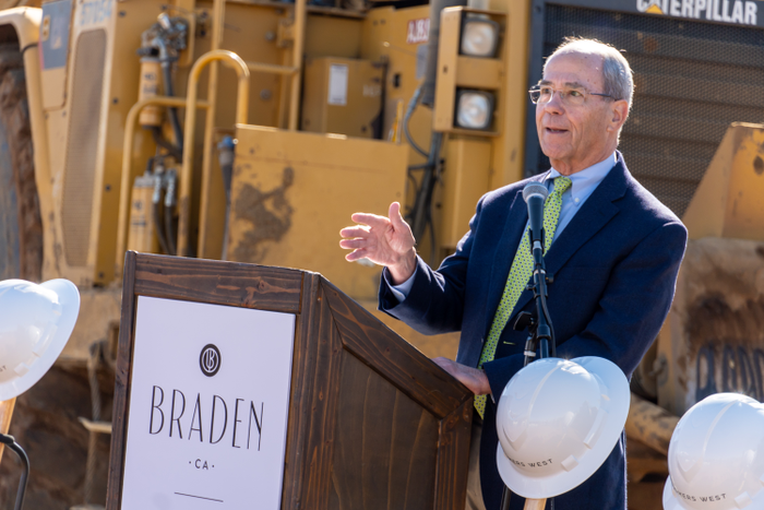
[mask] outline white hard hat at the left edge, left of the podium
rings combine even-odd
[[[0,282],[0,401],[32,388],[72,334],[80,293],[68,280]]]

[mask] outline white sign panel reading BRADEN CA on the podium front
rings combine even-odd
[[[277,510],[295,316],[139,296],[122,510]]]

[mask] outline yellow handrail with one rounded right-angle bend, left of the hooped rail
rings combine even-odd
[[[155,96],[135,103],[128,112],[124,122],[124,143],[122,145],[122,182],[119,188],[119,220],[117,224],[117,258],[115,260],[115,274],[119,277],[122,274],[124,263],[124,250],[128,242],[128,222],[130,221],[130,199],[132,193],[132,180],[135,178],[132,171],[132,149],[135,140],[135,128],[141,110],[146,106],[176,106],[188,105],[184,97]],[[195,108],[207,108],[206,100],[198,100]]]

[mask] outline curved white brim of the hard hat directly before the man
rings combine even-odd
[[[545,499],[565,494],[586,482],[612,452],[623,431],[629,415],[631,391],[623,371],[612,361],[597,356],[583,356],[571,359],[589,373],[599,378],[608,389],[608,417],[594,448],[578,459],[578,465],[571,471],[561,470],[549,476],[528,476],[510,461],[497,446],[497,466],[504,484],[514,494],[528,499]]]

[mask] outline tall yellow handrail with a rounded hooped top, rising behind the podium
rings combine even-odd
[[[178,218],[178,254],[188,257],[189,250],[189,229],[191,225],[191,179],[193,169],[193,132],[196,123],[196,94],[199,88],[199,75],[205,66],[217,60],[227,60],[234,66],[234,70],[239,78],[239,87],[236,99],[236,123],[247,123],[247,114],[249,110],[249,69],[247,63],[241,60],[241,57],[232,51],[225,49],[216,49],[202,55],[191,68],[189,75],[188,95],[186,97],[186,124],[183,127],[183,166],[180,171],[180,197],[179,218]],[[212,96],[216,91],[210,91]],[[214,119],[207,119],[212,122]],[[202,175],[202,189],[208,189],[211,171],[206,169]],[[204,200],[204,198],[202,198]]]

